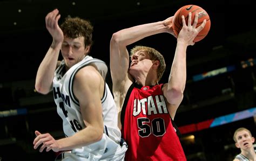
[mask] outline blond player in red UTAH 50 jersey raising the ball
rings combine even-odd
[[[169,81],[158,84],[165,70],[163,55],[150,47],[127,45],[158,33],[171,33],[173,17],[161,22],[133,26],[113,34],[110,42],[110,69],[114,100],[119,108],[119,128],[128,144],[125,160],[186,160],[173,128],[186,83],[186,48],[204,28],[206,20],[196,27],[198,13],[188,25],[183,16],[183,29],[177,46]],[[169,53],[170,54],[170,53]]]

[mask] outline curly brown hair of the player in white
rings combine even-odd
[[[60,25],[64,36],[75,39],[77,37],[84,37],[84,45],[92,45],[93,26],[89,20],[84,20],[79,17],[66,17],[64,22]]]

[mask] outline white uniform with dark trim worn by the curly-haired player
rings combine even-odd
[[[58,115],[63,120],[63,130],[66,137],[70,137],[85,128],[79,102],[73,94],[72,85],[78,70],[92,63],[97,66],[99,73],[105,79],[107,74],[105,62],[93,59],[90,56],[86,56],[66,72],[63,60],[55,71],[53,96],[57,105]],[[84,97],[86,99],[86,96]],[[73,149],[71,153],[63,153],[64,160],[123,160],[127,148],[119,145],[121,132],[117,126],[117,108],[106,83],[101,101],[104,122],[102,139],[99,142]]]

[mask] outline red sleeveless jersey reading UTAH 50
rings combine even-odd
[[[121,114],[126,161],[186,160],[161,87],[133,83],[126,94]]]

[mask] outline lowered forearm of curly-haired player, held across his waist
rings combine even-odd
[[[71,137],[59,139],[59,150],[72,150],[100,141],[103,136],[103,128],[86,127]]]

